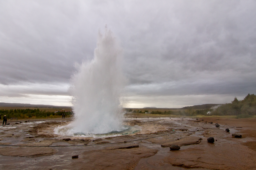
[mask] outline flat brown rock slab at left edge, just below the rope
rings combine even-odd
[[[26,156],[37,157],[46,156],[57,153],[56,149],[47,147],[5,147],[0,148],[0,154],[4,156]]]

